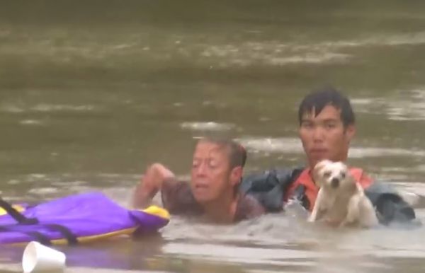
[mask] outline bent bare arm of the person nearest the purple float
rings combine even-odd
[[[149,206],[155,194],[162,189],[165,180],[175,178],[171,170],[160,163],[150,165],[139,185],[133,194],[132,206],[135,208],[145,208]]]

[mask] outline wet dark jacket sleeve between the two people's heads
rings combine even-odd
[[[268,212],[283,209],[283,195],[302,169],[266,170],[244,176],[239,192],[248,194],[259,201]]]

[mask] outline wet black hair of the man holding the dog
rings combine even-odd
[[[302,116],[306,112],[311,113],[314,111],[314,115],[317,116],[327,105],[332,105],[340,110],[340,117],[344,127],[355,124],[356,117],[354,116],[353,108],[351,108],[350,100],[331,86],[313,91],[305,96],[300,103],[300,108],[298,108],[298,122],[301,125]]]

